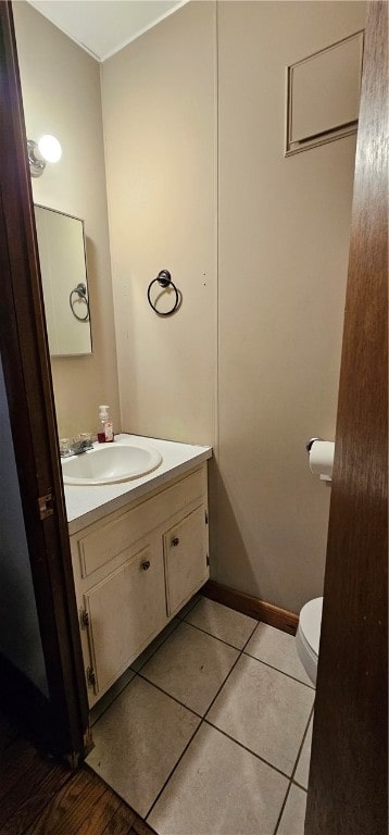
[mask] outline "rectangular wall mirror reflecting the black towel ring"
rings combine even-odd
[[[50,356],[91,353],[84,223],[34,208]]]

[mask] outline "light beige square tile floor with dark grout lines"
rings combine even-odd
[[[159,835],[303,835],[315,694],[292,636],[197,596],[133,672],[87,762]]]

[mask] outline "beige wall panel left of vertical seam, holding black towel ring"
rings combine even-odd
[[[103,122],[123,428],[212,443],[215,7],[190,3],[104,62]],[[147,300],[162,269],[183,306]]]

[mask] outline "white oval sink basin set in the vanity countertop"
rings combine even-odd
[[[101,444],[83,452],[61,459],[64,484],[75,486],[115,484],[139,478],[155,470],[162,456],[143,444]]]

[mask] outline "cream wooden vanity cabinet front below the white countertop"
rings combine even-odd
[[[209,577],[206,463],[71,536],[89,706]]]

